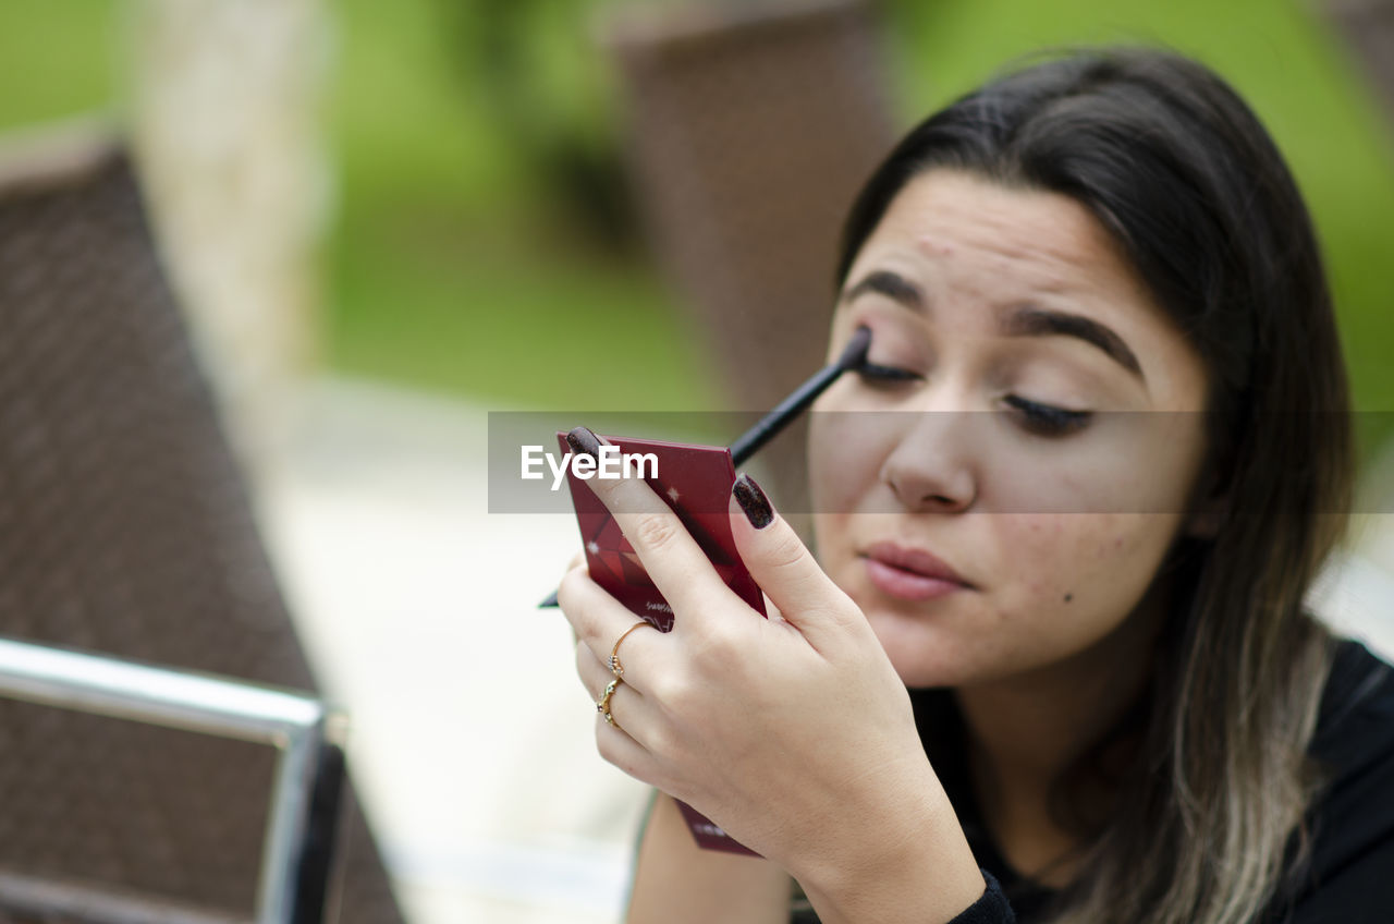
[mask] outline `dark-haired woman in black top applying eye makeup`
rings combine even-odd
[[[732,501],[772,618],[595,483],[676,614],[597,727],[668,794],[630,920],[789,920],[789,877],[827,924],[1394,920],[1394,680],[1302,607],[1348,508],[1340,346],[1242,100],[1146,50],[998,80],[873,174],[838,285],[829,353],[873,339],[811,426],[818,560]],[[599,698],[633,616],[584,567],[560,603]]]

